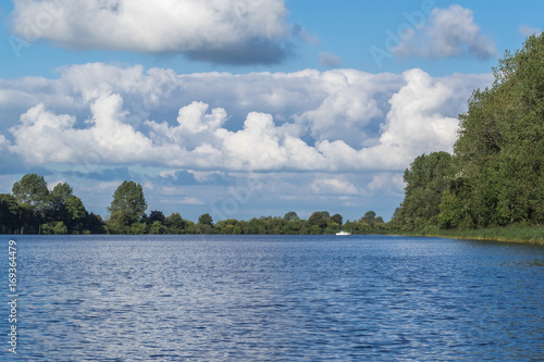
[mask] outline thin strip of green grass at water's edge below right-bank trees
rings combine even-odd
[[[480,229],[433,230],[429,233],[400,233],[404,235],[437,236],[454,239],[473,239],[544,245],[544,226],[508,226]]]

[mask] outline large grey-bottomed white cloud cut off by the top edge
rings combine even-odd
[[[13,33],[71,49],[185,53],[220,63],[276,63],[288,53],[281,0],[15,0]]]

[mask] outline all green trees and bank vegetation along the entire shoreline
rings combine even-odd
[[[180,213],[145,212],[139,184],[124,182],[108,208],[88,213],[67,184],[51,191],[42,176],[25,175],[12,195],[0,195],[2,233],[30,234],[354,234],[388,233],[544,242],[544,34],[507,51],[493,70],[491,88],[474,90],[459,115],[454,154],[416,158],[404,173],[405,199],[392,220],[369,211],[343,224],[341,215],[314,212],[284,217],[197,223]]]

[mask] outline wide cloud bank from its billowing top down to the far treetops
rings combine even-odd
[[[234,75],[102,63],[0,79],[0,188],[32,171],[67,182],[101,214],[134,179],[150,210],[191,220],[210,210],[308,217],[324,205],[387,219],[404,168],[452,150],[457,114],[492,82],[418,68]]]

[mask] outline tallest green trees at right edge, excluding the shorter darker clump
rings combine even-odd
[[[544,222],[544,35],[507,51],[494,75],[459,116],[446,226]]]

